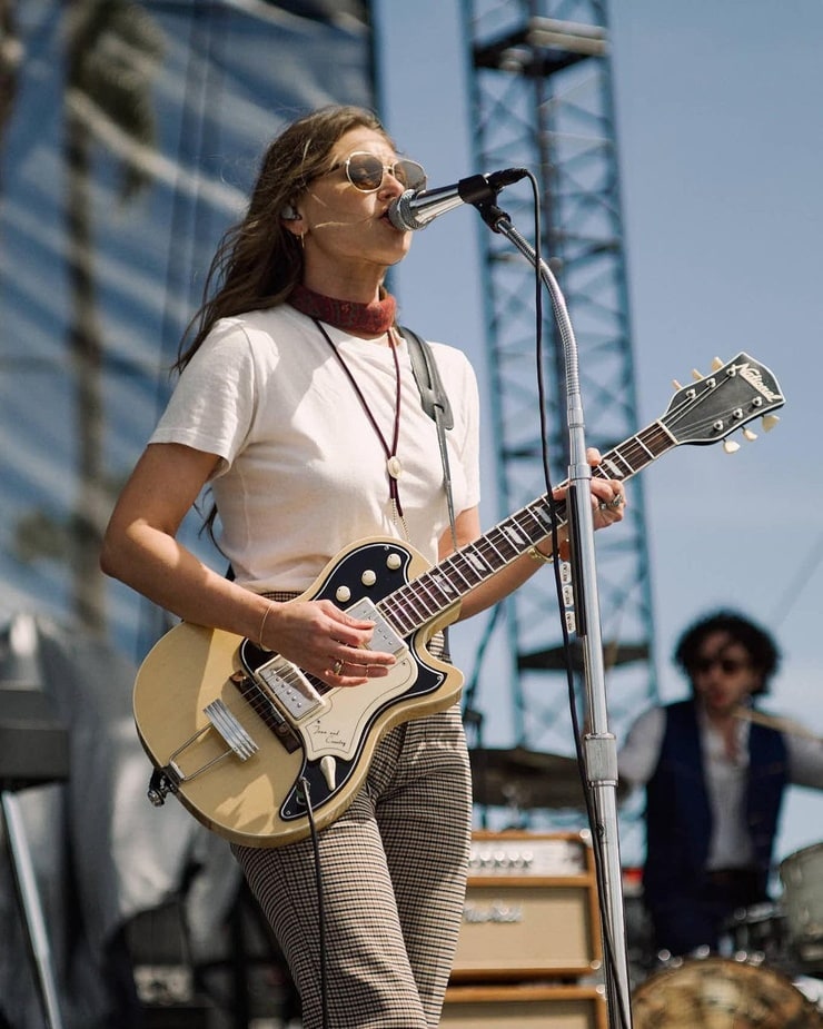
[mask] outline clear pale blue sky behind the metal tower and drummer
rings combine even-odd
[[[459,0],[376,8],[399,145],[433,186],[490,170],[472,167]],[[823,3],[619,0],[611,21],[637,427],[664,410],[673,379],[741,349],[786,396],[777,428],[737,454],[680,447],[644,473],[661,692],[684,690],[668,660],[680,631],[733,605],[783,650],[769,709],[823,736]],[[396,291],[404,319],[462,346],[483,386],[478,221],[462,208],[418,234]],[[492,447],[486,437],[489,462]],[[460,630],[464,664],[477,632]],[[510,742],[505,724],[490,745]],[[783,825],[780,857],[820,842],[823,795],[793,791]]]

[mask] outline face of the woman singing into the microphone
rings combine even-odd
[[[412,234],[396,229],[386,217],[389,204],[406,186],[390,172],[373,192],[364,192],[349,182],[344,164],[355,151],[379,158],[384,166],[397,160],[385,136],[374,129],[351,129],[338,139],[329,164],[338,165],[311,181],[298,198],[299,220],[288,222],[291,231],[304,235],[304,283],[329,295],[347,295],[347,285],[383,279],[386,268],[405,257]],[[357,297],[353,297],[356,299]]]

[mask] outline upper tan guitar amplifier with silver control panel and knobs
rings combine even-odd
[[[591,976],[601,954],[582,834],[474,833],[453,982]]]

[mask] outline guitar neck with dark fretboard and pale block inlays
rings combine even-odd
[[[658,419],[608,451],[593,469],[599,478],[627,479],[641,472],[677,439]],[[555,501],[558,527],[567,521],[565,501]],[[552,506],[546,494],[504,518],[478,540],[395,590],[377,605],[406,637],[428,625],[467,593],[510,564],[552,532]]]

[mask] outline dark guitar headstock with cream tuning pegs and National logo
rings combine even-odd
[[[785,404],[780,384],[748,354],[741,352],[725,364],[716,359],[705,377],[693,374],[695,382],[677,389],[661,418],[676,443],[717,443],[755,418],[763,419],[766,432],[779,420],[771,412]],[[751,429],[744,435],[756,438]],[[737,444],[728,441],[725,448],[735,451]]]

